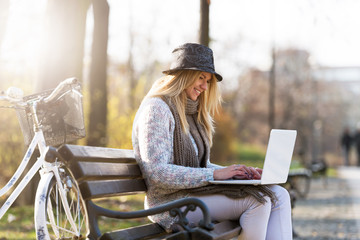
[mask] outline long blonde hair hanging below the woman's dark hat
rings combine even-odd
[[[169,97],[175,105],[180,116],[181,128],[185,133],[189,131],[189,124],[185,116],[185,104],[187,95],[185,89],[191,86],[200,76],[201,71],[179,70],[171,75],[166,75],[153,84],[146,97]],[[205,128],[212,145],[212,136],[215,131],[213,116],[221,104],[221,96],[217,79],[212,74],[206,91],[199,96],[198,121]]]

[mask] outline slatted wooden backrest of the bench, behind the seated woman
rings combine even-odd
[[[85,200],[147,190],[132,150],[64,145],[58,151]]]

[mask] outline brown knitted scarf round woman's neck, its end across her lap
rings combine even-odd
[[[210,156],[209,139],[205,133],[205,128],[197,119],[199,101],[187,99],[185,105],[186,120],[189,124],[189,133],[185,133],[181,128],[180,115],[169,97],[162,97],[169,106],[175,120],[174,129],[174,164],[185,167],[206,168],[207,160]],[[198,148],[196,153],[191,142],[190,134]],[[211,195],[223,194],[230,198],[244,198],[249,195],[255,197],[259,202],[265,203],[265,196],[270,197],[275,202],[274,193],[267,186],[253,185],[206,185],[198,188],[185,189],[189,194]]]

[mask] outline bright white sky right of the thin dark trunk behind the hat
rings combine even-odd
[[[274,45],[275,48],[307,49],[321,65],[360,65],[360,33],[357,31],[360,1],[234,0],[227,5],[222,2],[214,1],[215,19],[225,24],[239,18],[226,32],[221,28],[223,24],[215,28],[214,34],[224,34],[224,41],[238,31],[246,36],[246,41],[264,48]]]

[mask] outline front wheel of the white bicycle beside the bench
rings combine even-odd
[[[60,198],[60,190],[52,173],[42,177],[36,196],[35,228],[37,239],[86,239],[88,219],[85,202],[82,200],[76,181],[63,171],[61,185],[74,220],[72,226]],[[39,194],[38,194],[39,193]]]

